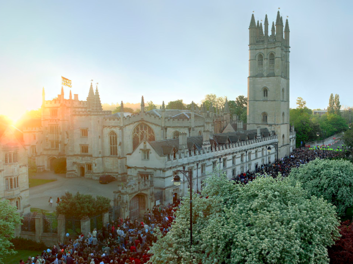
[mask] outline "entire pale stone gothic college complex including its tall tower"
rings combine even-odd
[[[92,83],[86,101],[72,98],[71,91],[65,99],[63,89],[46,101],[43,89],[40,126],[24,130],[29,154],[42,170],[66,158],[68,178],[113,175],[115,204],[131,218],[186,195],[187,181],[178,187],[171,182],[183,166],[194,175],[194,189],[201,190],[213,169],[231,178],[289,154],[295,133],[289,128],[288,22],[285,39],[279,13],[276,34],[273,27],[267,35],[267,24],[266,17],[264,35],[262,25],[251,19],[248,124],[230,117],[227,101],[222,109],[171,110],[163,103],[145,111],[142,97],[140,113],[125,113],[122,103],[121,112],[111,114],[102,110]]]

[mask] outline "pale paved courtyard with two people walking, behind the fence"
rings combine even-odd
[[[113,191],[116,191],[116,182],[99,184],[97,180],[86,178],[65,178],[65,174],[54,172],[36,173],[35,179],[56,180],[55,182],[39,185],[29,189],[29,204],[32,208],[39,208],[48,211],[55,211],[57,197],[63,196],[66,192],[76,194],[91,194],[94,197],[101,195],[113,199]],[[49,197],[53,199],[52,207],[49,206]],[[112,204],[112,202],[111,202]]]

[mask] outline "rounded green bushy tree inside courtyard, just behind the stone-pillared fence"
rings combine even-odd
[[[106,213],[110,208],[110,199],[92,195],[80,194],[75,196],[67,192],[62,196],[62,201],[56,206],[56,215],[63,214],[68,218],[82,219],[85,216],[93,217]]]

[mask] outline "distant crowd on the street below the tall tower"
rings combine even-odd
[[[334,158],[338,157],[340,152],[332,151],[326,148],[296,148],[290,153],[290,156],[285,155],[284,158],[276,159],[273,163],[262,164],[261,166],[256,166],[254,171],[247,171],[238,174],[233,177],[232,180],[237,183],[248,184],[249,182],[256,179],[256,174],[267,174],[273,178],[277,178],[280,173],[282,177],[287,177],[290,173],[291,168],[299,167],[302,164],[306,164],[316,158]]]

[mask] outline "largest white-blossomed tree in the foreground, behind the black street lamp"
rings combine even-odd
[[[339,222],[322,198],[271,177],[243,186],[211,175],[207,183],[207,199],[193,196],[192,248],[186,198],[172,229],[157,230],[150,263],[329,263]]]

